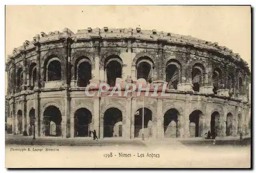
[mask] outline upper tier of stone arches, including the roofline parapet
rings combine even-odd
[[[81,57],[86,57],[81,63],[88,62],[92,74],[79,84],[77,76],[82,75],[78,72]],[[109,80],[106,68],[110,59],[120,63],[120,76],[116,78],[123,81],[143,78],[145,75],[139,73],[144,73],[140,69],[140,64],[144,63],[147,65],[143,68],[148,66],[148,73],[151,73],[147,74],[148,83],[163,81],[170,83],[170,90],[197,94],[249,97],[248,63],[217,42],[156,30],[108,27],[88,28],[77,33],[65,28],[61,32],[41,32],[32,41],[26,40],[8,56],[8,93],[51,89],[53,85],[85,87],[81,82],[88,84],[89,79],[106,82]],[[50,67],[52,61],[56,64]],[[49,69],[57,65],[59,77],[52,79]],[[52,81],[61,82],[53,84]],[[13,89],[13,84],[19,85],[20,90]]]

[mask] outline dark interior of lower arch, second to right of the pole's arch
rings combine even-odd
[[[199,137],[200,129],[199,129],[199,118],[202,115],[202,112],[199,110],[193,111],[189,115],[189,134],[190,137]]]

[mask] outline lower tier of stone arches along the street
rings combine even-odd
[[[204,137],[250,133],[250,108],[227,98],[173,92],[170,97],[86,97],[84,91],[44,91],[12,97],[7,124],[13,134],[36,137],[124,139]],[[35,120],[35,121],[34,121]],[[144,122],[142,122],[144,121]],[[35,122],[35,123],[34,123]],[[144,128],[142,129],[142,124]]]

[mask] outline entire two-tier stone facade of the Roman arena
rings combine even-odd
[[[62,138],[94,129],[99,138],[125,139],[142,132],[153,139],[203,137],[208,131],[237,136],[241,126],[244,135],[250,133],[248,64],[226,47],[191,36],[107,27],[41,32],[13,50],[6,72],[13,134],[32,135],[33,125],[36,136]],[[145,97],[142,120],[142,100],[133,94],[84,94],[90,82],[111,84],[115,73],[119,83],[167,82],[170,96]]]

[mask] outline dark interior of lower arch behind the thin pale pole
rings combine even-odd
[[[134,117],[134,137],[139,137],[139,132],[142,129],[142,116],[143,110],[140,108],[137,110]],[[148,122],[152,121],[152,111],[144,107],[144,128],[148,128]],[[151,128],[149,128],[151,129]],[[152,136],[152,132],[149,132],[149,136]]]

